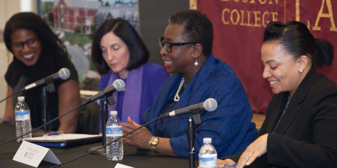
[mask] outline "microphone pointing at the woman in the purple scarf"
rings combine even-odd
[[[125,83],[122,79],[116,79],[112,85],[106,87],[103,91],[96,93],[95,95],[87,98],[82,103],[80,103],[79,107],[85,106],[88,103],[91,103],[93,101],[96,101],[99,98],[102,98],[103,96],[110,96],[114,92],[121,92],[125,88]]]

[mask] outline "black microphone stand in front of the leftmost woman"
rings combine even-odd
[[[55,92],[55,86],[53,83],[52,77],[47,77],[45,79],[46,86],[42,87],[42,93],[41,93],[41,105],[42,105],[42,125],[44,125],[47,122],[47,96],[48,93]],[[47,131],[47,125],[43,126],[43,131]]]

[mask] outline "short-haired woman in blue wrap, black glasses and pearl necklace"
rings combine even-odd
[[[143,121],[146,123],[166,112],[214,98],[218,102],[217,109],[200,113],[202,123],[195,126],[194,149],[198,153],[203,138],[211,137],[218,156],[222,157],[245,149],[253,141],[256,129],[251,123],[251,106],[243,86],[228,64],[213,57],[212,41],[212,23],[205,14],[186,10],[169,17],[169,25],[164,37],[159,38],[159,45],[166,71],[171,75],[152,107],[143,114]],[[124,143],[188,157],[186,126],[192,115],[160,118],[148,128],[126,136]],[[133,120],[122,124],[124,132],[139,126]]]

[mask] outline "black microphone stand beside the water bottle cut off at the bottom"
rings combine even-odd
[[[191,110],[193,116],[189,116],[187,119],[187,139],[189,141],[189,165],[190,168],[195,168],[194,159],[194,140],[195,140],[195,124],[201,124],[200,109]]]

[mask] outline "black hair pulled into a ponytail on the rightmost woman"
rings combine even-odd
[[[270,22],[264,32],[263,42],[277,41],[295,59],[308,56],[312,66],[322,68],[329,66],[334,59],[332,44],[320,38],[314,38],[307,25],[299,21],[287,23]]]

